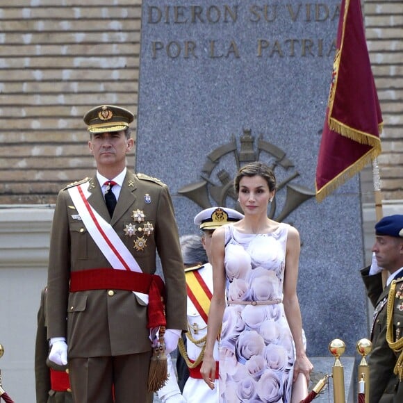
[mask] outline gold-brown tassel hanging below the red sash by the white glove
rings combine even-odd
[[[148,372],[148,391],[156,392],[161,389],[168,379],[167,356],[164,343],[165,327],[159,330],[159,343],[153,350]]]

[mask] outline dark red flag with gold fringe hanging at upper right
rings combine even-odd
[[[380,154],[382,126],[360,0],[343,0],[316,168],[318,201]]]

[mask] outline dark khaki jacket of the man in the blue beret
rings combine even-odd
[[[397,355],[386,341],[387,303],[390,285],[382,288],[381,273],[369,276],[370,267],[361,270],[361,277],[374,305],[374,318],[371,329],[372,352],[368,359],[370,365],[370,403],[403,402],[403,387],[393,373]],[[403,282],[402,282],[403,283]],[[403,302],[403,299],[401,300]],[[394,309],[394,321],[403,324],[403,311]],[[395,331],[394,331],[395,334]]]

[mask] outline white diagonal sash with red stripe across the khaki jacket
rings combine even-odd
[[[124,245],[115,229],[88,203],[87,198],[90,195],[88,185],[89,183],[87,182],[73,186],[68,189],[68,192],[91,238],[113,269],[132,270],[133,272],[142,273],[134,256],[129,252],[126,245]],[[133,291],[133,293],[148,304],[147,294],[138,293],[137,291]]]

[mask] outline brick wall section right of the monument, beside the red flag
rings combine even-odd
[[[403,6],[402,0],[365,0],[365,35],[384,118],[378,158],[384,200],[403,199]],[[361,176],[363,201],[373,191],[372,171]]]

